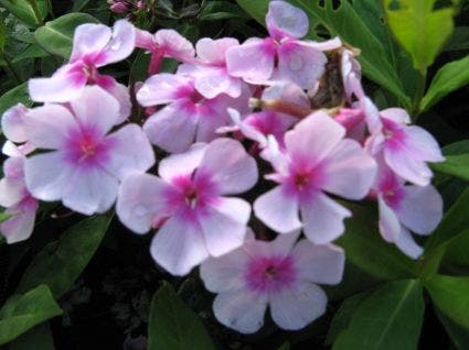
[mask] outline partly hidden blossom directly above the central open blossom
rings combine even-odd
[[[184,152],[193,142],[210,142],[217,138],[216,130],[231,123],[227,107],[244,113],[251,91],[233,99],[218,95],[206,99],[194,87],[194,79],[180,74],[151,76],[137,92],[143,107],[167,105],[143,124],[151,143],[167,152]],[[174,136],[177,135],[177,136]]]

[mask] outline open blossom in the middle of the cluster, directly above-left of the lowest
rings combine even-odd
[[[251,205],[225,197],[257,182],[257,166],[242,144],[217,139],[194,144],[159,164],[159,176],[135,174],[124,181],[116,212],[137,233],[159,228],[151,243],[154,261],[184,275],[209,255],[243,243]]]

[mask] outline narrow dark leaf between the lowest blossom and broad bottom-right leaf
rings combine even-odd
[[[362,292],[343,300],[331,320],[324,344],[331,346],[335,341],[337,337],[347,329],[356,308],[369,295],[370,293]]]

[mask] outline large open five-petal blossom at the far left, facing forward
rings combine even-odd
[[[32,109],[25,119],[28,140],[52,152],[25,161],[29,192],[41,200],[61,199],[85,215],[108,210],[119,181],[154,163],[151,145],[136,124],[108,134],[118,118],[119,103],[98,86],[86,87],[70,108],[47,103]]]

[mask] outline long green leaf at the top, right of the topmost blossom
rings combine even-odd
[[[264,24],[268,0],[236,1],[253,18]],[[361,55],[358,58],[366,77],[394,94],[406,107],[409,107],[411,100],[403,91],[396,67],[391,63],[390,55],[383,43],[374,35],[360,14],[349,1],[342,1],[337,9],[333,8],[331,0],[326,0],[324,2],[324,7],[321,7],[319,1],[290,1],[291,4],[305,10],[311,28],[322,24],[331,36],[338,35],[348,44],[360,48]],[[317,39],[318,36],[310,30],[307,37]]]

